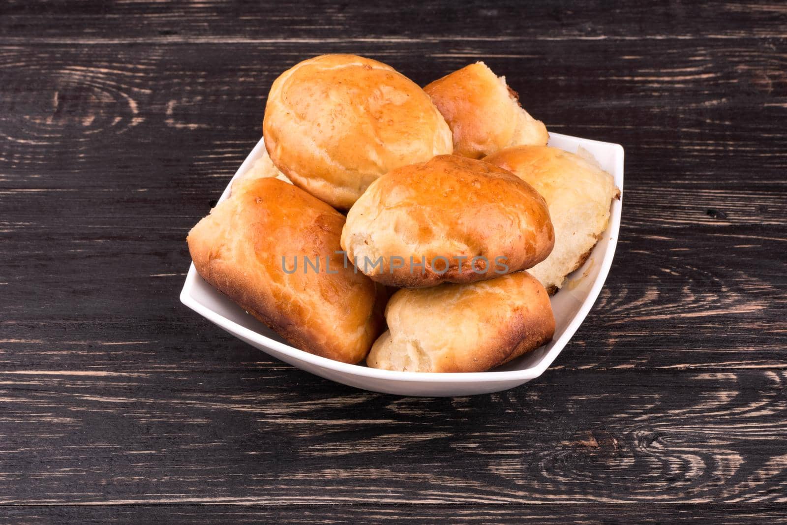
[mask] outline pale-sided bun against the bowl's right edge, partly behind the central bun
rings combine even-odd
[[[620,195],[615,181],[589,155],[586,158],[547,146],[515,146],[484,159],[532,185],[549,205],[555,248],[528,270],[550,294],[566,275],[582,266],[607,229],[609,207]]]

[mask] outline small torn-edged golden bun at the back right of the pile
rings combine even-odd
[[[483,62],[423,88],[453,132],[453,153],[481,158],[506,146],[549,140],[546,127],[519,105],[519,95]]]

